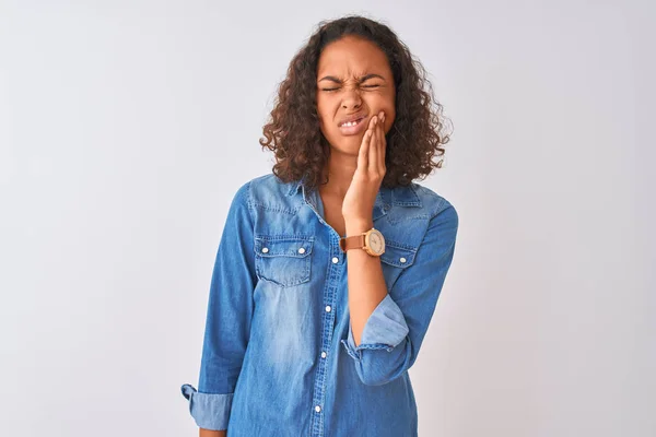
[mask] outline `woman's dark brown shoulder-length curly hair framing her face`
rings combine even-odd
[[[449,140],[443,132],[446,118],[433,96],[433,86],[421,62],[386,25],[361,15],[321,21],[290,62],[280,83],[270,120],[259,142],[274,153],[273,174],[282,181],[302,180],[314,189],[321,181],[330,145],[319,128],[316,74],[319,56],[330,43],[344,36],[360,36],[376,44],[391,68],[396,85],[396,119],[386,134],[385,187],[408,186],[442,167],[443,145]]]

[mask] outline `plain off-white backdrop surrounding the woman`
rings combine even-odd
[[[179,386],[229,202],[270,172],[290,59],[349,12],[454,125],[420,181],[460,214],[420,435],[656,435],[648,1],[0,0],[3,436],[197,435]]]

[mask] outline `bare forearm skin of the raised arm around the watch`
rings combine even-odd
[[[345,220],[347,236],[362,234],[373,227],[373,222]],[[372,257],[362,249],[347,251],[349,312],[355,345],[360,345],[362,331],[374,309],[387,296],[379,257]]]

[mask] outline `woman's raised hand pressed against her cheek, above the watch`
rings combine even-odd
[[[347,223],[372,223],[376,196],[385,177],[385,114],[372,117],[364,132],[358,153],[358,168],[342,202],[342,215]],[[371,228],[371,226],[370,226]],[[367,229],[362,229],[365,232]]]

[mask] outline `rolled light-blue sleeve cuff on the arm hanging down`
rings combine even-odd
[[[183,395],[189,400],[189,412],[200,428],[227,429],[234,393],[201,393],[188,383],[183,385],[181,391]]]

